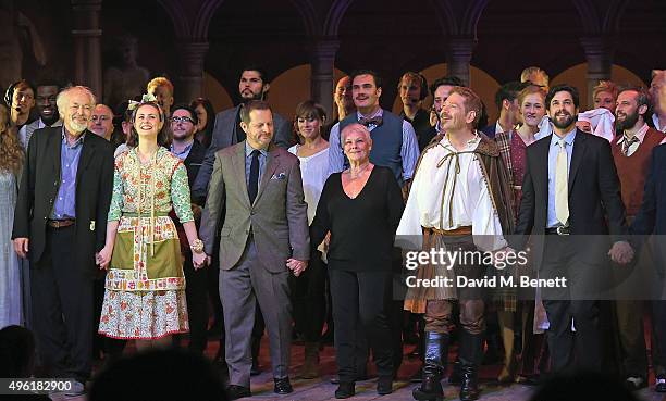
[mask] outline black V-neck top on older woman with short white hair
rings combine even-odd
[[[331,174],[324,184],[311,225],[312,246],[321,243],[330,230],[329,268],[390,271],[395,230],[405,208],[393,172],[375,165],[355,199],[345,193],[341,174]]]

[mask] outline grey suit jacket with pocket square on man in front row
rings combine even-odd
[[[259,259],[268,271],[284,272],[288,258],[309,260],[308,206],[298,158],[271,143],[257,198],[250,204],[245,179],[245,141],[218,151],[199,231],[207,254],[213,251],[218,224],[222,224],[222,270],[238,263],[250,229]]]

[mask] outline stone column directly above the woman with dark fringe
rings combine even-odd
[[[316,39],[311,46],[310,97],[323,105],[326,114],[333,111],[333,73],[335,72],[335,54],[340,41],[335,39]]]

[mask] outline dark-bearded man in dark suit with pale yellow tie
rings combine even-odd
[[[622,260],[632,254],[624,240],[625,206],[610,146],[576,129],[578,104],[576,88],[560,85],[548,91],[546,106],[554,134],[528,148],[516,237],[509,240],[513,248],[522,250],[532,235],[531,254],[540,278],[568,279],[566,287],[543,288],[556,373],[570,367],[575,356],[579,367],[601,371],[600,311],[594,297],[607,276],[609,239],[612,253]]]

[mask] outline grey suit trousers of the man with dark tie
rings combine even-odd
[[[238,264],[229,271],[220,270],[230,385],[249,388],[252,364],[250,342],[257,301],[269,334],[273,377],[287,377],[292,344],[288,276],[286,266],[284,272],[271,273],[261,264],[251,236]]]

